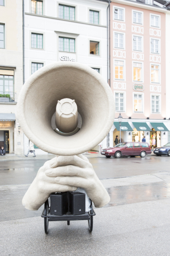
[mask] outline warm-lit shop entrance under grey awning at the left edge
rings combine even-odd
[[[15,114],[0,114],[0,148],[4,147],[6,153],[14,152],[14,121]]]

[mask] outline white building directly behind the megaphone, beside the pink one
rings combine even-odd
[[[25,0],[25,81],[59,61],[87,64],[107,81],[107,7],[97,0]]]

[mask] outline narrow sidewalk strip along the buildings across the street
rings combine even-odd
[[[105,157],[100,153],[84,153],[84,156],[87,158],[95,158],[95,157]],[[16,160],[50,160],[53,159],[55,155],[47,154],[47,155],[36,155],[33,157],[33,154],[29,154],[28,157],[25,155],[14,155],[14,154],[6,154],[5,156],[0,156],[0,162],[2,161],[16,161]]]

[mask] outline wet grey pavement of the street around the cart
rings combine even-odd
[[[89,159],[110,202],[87,221],[50,222],[21,200],[45,160],[0,162],[0,255],[170,255],[170,157]],[[5,241],[5,243],[4,243]]]

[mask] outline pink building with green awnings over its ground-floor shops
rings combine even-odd
[[[116,2],[110,4],[110,86],[116,101],[110,146],[119,137],[119,113],[123,141],[142,141],[145,136],[152,148],[162,146],[170,130],[166,120],[166,9],[152,1]]]

